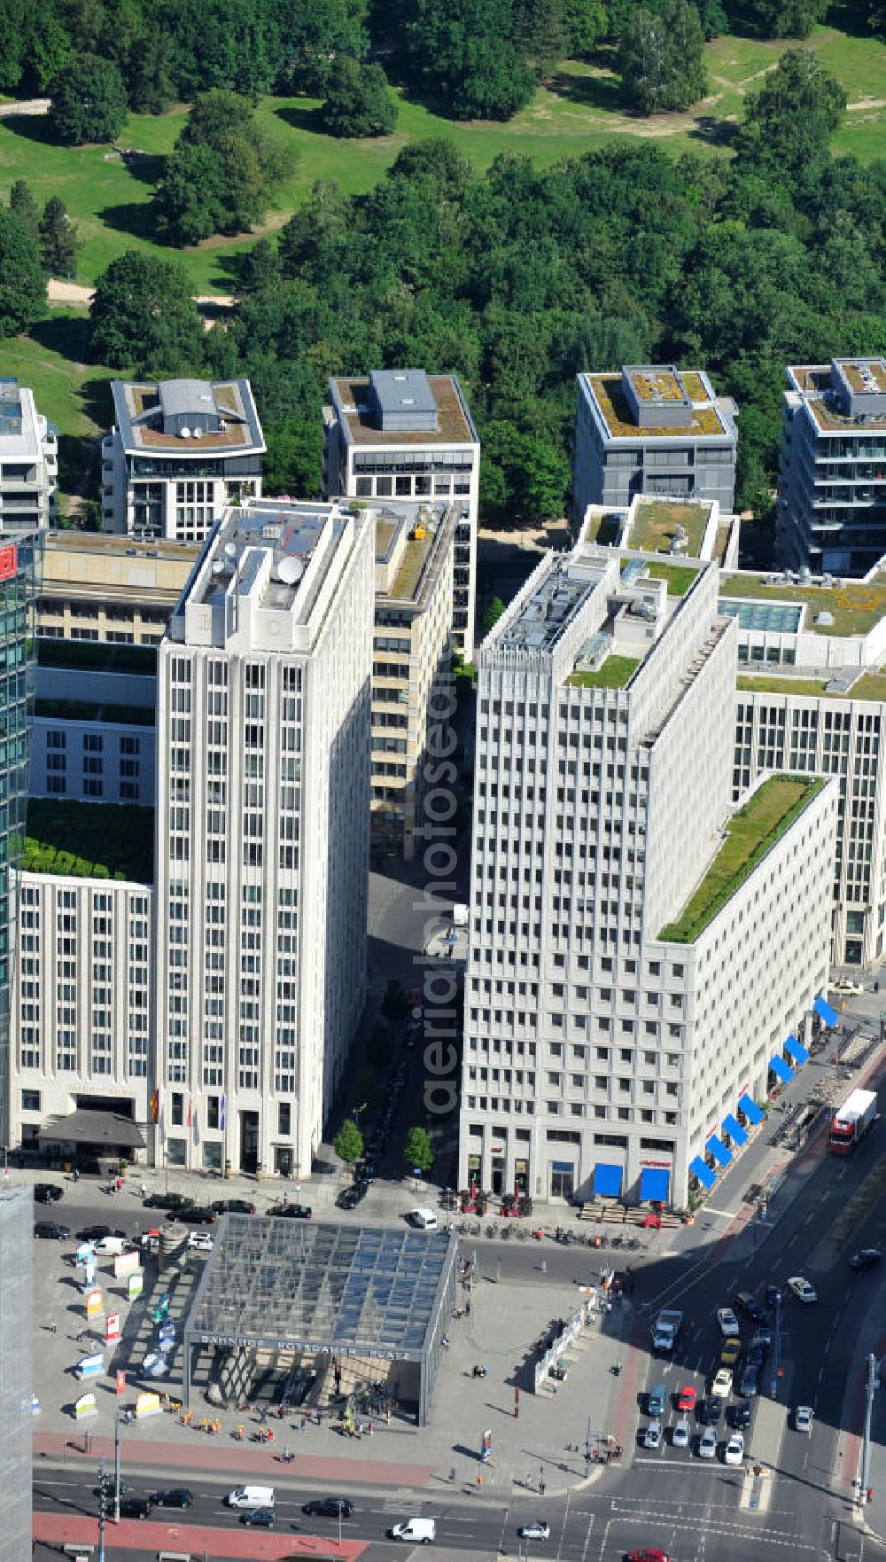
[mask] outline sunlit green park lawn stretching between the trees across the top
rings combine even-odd
[[[607,145],[613,136],[649,137],[675,155],[694,148],[713,156],[728,139],[724,122],[741,116],[746,92],[786,47],[785,41],[714,39],[707,45],[708,97],[689,114],[661,114],[652,120],[622,112],[618,77],[611,70],[579,61],[565,61],[551,86],[540,87],[532,105],[507,125],[455,123],[431,114],[420,103],[401,102],[396,133],[381,141],[335,141],[317,128],[317,102],[265,98],[259,105],[259,119],[299,155],[293,175],[279,191],[278,209],[268,216],[268,226],[281,226],[318,178],[337,178],[348,192],[370,189],[401,147],[423,136],[448,136],[476,169],[487,169],[499,152],[507,150],[527,153],[538,167],[549,167],[565,156]],[[806,47],[814,48],[842,81],[850,103],[886,98],[886,50],[881,44],[850,37],[835,28],[816,28]],[[179,106],[159,119],[131,116],[120,145],[147,156],[129,164],[103,147],[53,145],[41,119],[3,120],[0,194],[6,195],[12,181],[23,177],[39,201],[61,195],[84,239],[78,258],[80,280],[94,281],[126,248],[161,248],[151,236],[147,209],[159,169],[154,159],[172,148],[186,112]],[[886,155],[886,109],[849,112],[835,147],[866,159]],[[225,262],[250,242],[251,236],[209,239],[200,248],[181,251],[193,291],[226,292],[231,269]]]

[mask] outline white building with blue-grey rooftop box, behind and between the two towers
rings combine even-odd
[[[329,381],[323,495],[457,505],[452,637],[470,661],[477,590],[480,440],[455,375],[373,370]]]

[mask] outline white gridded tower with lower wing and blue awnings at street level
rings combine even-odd
[[[833,786],[711,890],[735,647],[713,565],[579,544],[479,650],[460,1186],[683,1204],[827,981]]]

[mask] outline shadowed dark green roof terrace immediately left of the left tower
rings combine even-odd
[[[153,808],[31,798],[22,867],[30,873],[153,883]]]

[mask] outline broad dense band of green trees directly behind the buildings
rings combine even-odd
[[[484,442],[484,512],[518,523],[563,512],[576,373],[674,359],[735,397],[738,503],[766,514],[785,364],[886,351],[886,164],[831,156],[841,105],[789,50],[730,159],[633,142],[549,172],[502,155],[477,177],[448,141],[412,144],[367,195],[315,184],[246,256],[226,330],[186,330],[183,287],[147,278],[151,362],[250,375],[267,490],[306,497],[329,375],[454,370]],[[117,336],[115,278],[100,284],[100,356],[129,341],[139,358],[126,281]]]

